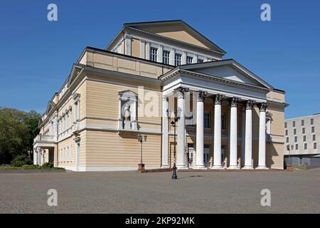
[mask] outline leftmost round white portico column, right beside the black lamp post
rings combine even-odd
[[[186,125],[185,121],[185,110],[184,110],[184,93],[186,88],[177,88],[176,93],[178,96],[178,109],[181,110],[181,117],[178,120],[178,129],[177,129],[177,164],[178,168],[186,168],[186,159],[185,159],[185,146],[186,146]]]

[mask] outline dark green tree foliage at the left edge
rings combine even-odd
[[[0,164],[9,164],[18,155],[33,150],[33,138],[38,135],[40,114],[0,107]]]

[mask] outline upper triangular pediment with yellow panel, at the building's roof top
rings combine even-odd
[[[208,40],[208,38],[201,35],[201,33],[198,33],[198,31],[181,20],[130,23],[125,24],[125,26],[137,28],[142,31],[154,33],[166,38],[171,38],[176,41],[191,43],[192,45],[200,46],[201,48],[208,48],[213,51],[225,53],[223,49],[216,46],[214,43]]]

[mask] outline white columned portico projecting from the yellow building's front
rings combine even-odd
[[[199,64],[198,64],[199,65]],[[237,71],[230,71],[238,67]],[[196,142],[195,158],[196,162],[193,164],[194,169],[207,168],[204,164],[204,139],[209,138],[212,140],[213,145],[213,159],[210,162],[210,169],[222,169],[227,167],[228,169],[241,168],[240,160],[244,160],[244,169],[252,169],[252,108],[259,108],[259,125],[255,125],[254,128],[258,128],[259,136],[255,138],[259,145],[257,169],[266,169],[266,133],[265,124],[266,117],[265,112],[267,109],[266,94],[269,88],[266,83],[263,84],[259,81],[257,76],[250,75],[244,68],[242,68],[235,61],[229,61],[225,63],[226,76],[213,76],[215,74],[215,63],[203,63],[202,67],[196,66],[192,68],[192,65],[177,67],[176,71],[161,77],[164,82],[163,93],[163,108],[181,109],[181,119],[178,121],[177,130],[177,167],[178,169],[186,168],[188,165],[188,147],[186,141],[188,135],[192,135],[192,128],[196,125],[196,131],[193,130],[193,139]],[[229,71],[227,71],[229,68]],[[203,69],[206,70],[204,74]],[[220,70],[220,69],[219,69]],[[223,72],[218,71],[220,74]],[[230,72],[233,75],[228,75]],[[210,73],[210,74],[209,74]],[[238,73],[238,74],[236,74]],[[233,81],[228,80],[228,77],[233,76]],[[250,83],[243,83],[245,78],[250,78]],[[235,82],[238,79],[238,83]],[[243,89],[245,88],[245,89]],[[191,99],[192,97],[192,99]],[[174,101],[176,99],[176,102]],[[205,106],[210,105],[211,112],[213,113],[213,132],[205,134],[204,128],[204,113]],[[194,107],[191,108],[190,107]],[[228,125],[228,132],[222,135],[222,108],[228,110],[228,120],[224,120]],[[242,112],[239,110],[245,109],[245,123],[239,123]],[[162,110],[163,113],[165,110]],[[210,111],[210,110],[207,110]],[[192,124],[186,121],[186,118],[193,120]],[[163,118],[163,142],[169,142],[169,135],[172,135],[168,128],[165,118]],[[241,127],[245,128],[245,135],[241,134]],[[191,130],[189,129],[191,127]],[[188,134],[190,132],[190,134]],[[210,139],[211,138],[211,139]],[[224,138],[224,139],[223,139]],[[240,141],[245,141],[245,154],[238,153],[240,147]],[[228,152],[227,164],[223,165],[222,160],[222,141],[227,141]],[[168,144],[167,144],[168,145]],[[169,147],[163,144],[162,147],[162,166],[169,167],[170,151]],[[243,157],[244,156],[244,157]]]

